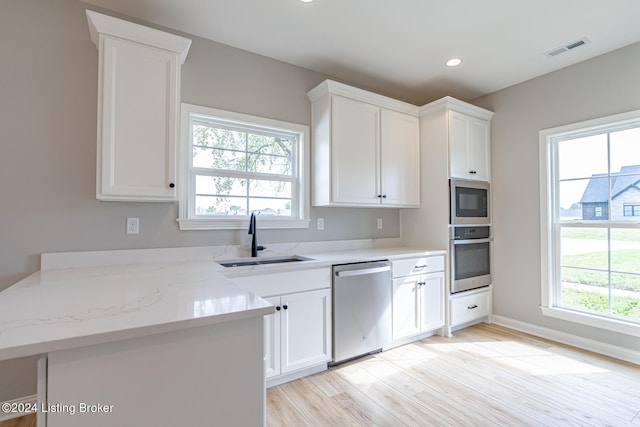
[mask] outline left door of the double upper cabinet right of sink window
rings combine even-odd
[[[380,109],[336,95],[331,102],[332,202],[379,205]]]

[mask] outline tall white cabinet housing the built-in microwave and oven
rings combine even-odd
[[[445,333],[490,315],[491,288],[450,294],[449,179],[491,180],[493,112],[451,97],[420,108],[419,209],[400,211],[402,240],[408,246],[447,248]],[[473,295],[473,296],[472,296]],[[468,300],[468,301],[467,301]],[[465,306],[461,304],[466,303]],[[474,310],[467,309],[476,305]]]

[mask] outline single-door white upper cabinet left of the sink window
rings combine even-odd
[[[87,10],[98,48],[99,200],[177,200],[180,67],[191,40]]]

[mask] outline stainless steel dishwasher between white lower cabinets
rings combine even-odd
[[[391,342],[391,265],[333,266],[333,362],[381,350]]]

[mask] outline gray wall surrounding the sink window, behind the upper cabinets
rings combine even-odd
[[[37,271],[42,252],[248,244],[241,230],[179,231],[175,204],[96,201],[98,52],[86,8],[0,0],[0,290]],[[182,100],[309,125],[306,92],[325,78],[193,38]],[[311,216],[325,218],[325,231],[315,221],[308,230],[263,230],[261,243],[400,233],[398,209],[312,208]],[[125,234],[126,217],[140,218],[139,235]],[[0,363],[0,401],[32,393],[33,358]]]

